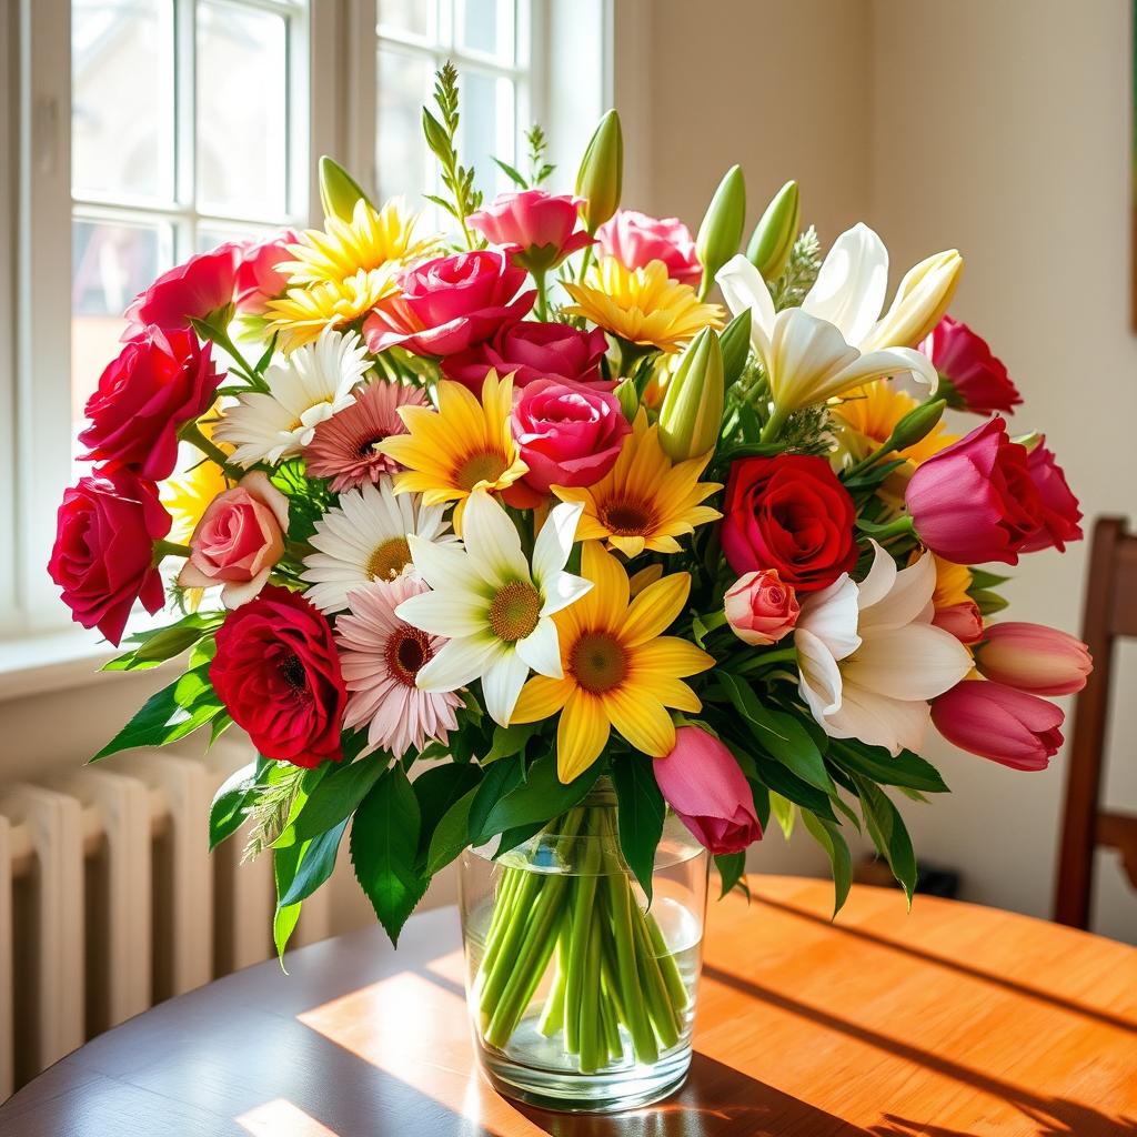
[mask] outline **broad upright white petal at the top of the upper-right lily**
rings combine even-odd
[[[827,319],[852,343],[877,323],[888,291],[888,250],[868,225],[846,230],[825,256],[802,308]]]

